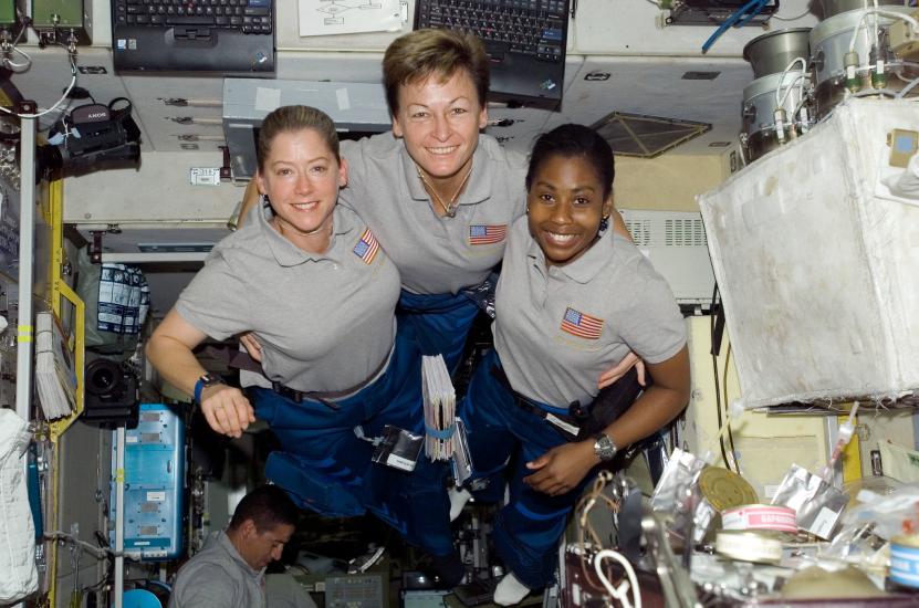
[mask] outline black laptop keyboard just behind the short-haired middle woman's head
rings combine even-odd
[[[522,53],[541,61],[564,60],[563,0],[419,0],[416,28],[459,30],[477,35],[492,61]]]

